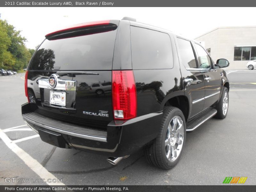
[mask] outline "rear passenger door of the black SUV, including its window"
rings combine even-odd
[[[181,37],[177,37],[176,40],[185,96],[190,103],[189,117],[193,117],[204,108],[204,73],[198,69],[196,52],[191,41]]]

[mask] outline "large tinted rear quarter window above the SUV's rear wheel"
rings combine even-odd
[[[132,69],[173,67],[172,44],[166,33],[131,26]]]

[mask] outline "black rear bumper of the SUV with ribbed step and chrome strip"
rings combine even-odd
[[[61,135],[65,145],[61,143],[58,147],[65,146],[115,157],[130,155],[154,140],[162,119],[162,113],[151,113],[126,122],[113,120],[107,125],[107,131],[102,131],[44,117],[36,112],[38,108],[33,103],[26,103],[21,109],[24,121],[34,131],[39,131],[39,134],[43,131]],[[40,134],[40,137],[46,141],[43,138],[45,134]]]

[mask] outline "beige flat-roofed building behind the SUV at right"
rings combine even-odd
[[[256,26],[219,27],[195,39],[216,62],[227,59],[227,69],[246,69],[249,60],[256,60]]]

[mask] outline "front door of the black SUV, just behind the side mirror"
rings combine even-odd
[[[206,109],[211,107],[220,98],[221,70],[214,67],[210,56],[200,44],[194,43],[194,45],[197,52],[199,69],[206,70],[204,71],[204,109]]]

